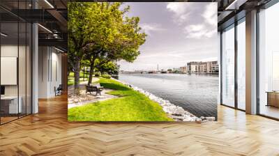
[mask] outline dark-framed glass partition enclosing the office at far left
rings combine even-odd
[[[11,1],[10,1],[11,2]],[[27,1],[0,4],[25,9]],[[30,2],[30,1],[29,1]],[[0,124],[31,114],[31,24],[0,8]]]

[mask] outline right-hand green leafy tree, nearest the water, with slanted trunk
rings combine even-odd
[[[84,46],[86,59],[90,61],[89,84],[93,77],[93,69],[110,61],[121,59],[133,62],[140,54],[140,45],[145,42],[146,34],[140,32],[139,17],[124,17],[129,7],[120,9],[121,3],[100,3],[101,9],[98,18],[102,23],[98,24],[98,29],[93,29],[91,42]],[[96,19],[91,18],[92,24],[96,24]]]

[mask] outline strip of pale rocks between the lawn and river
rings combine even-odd
[[[114,78],[112,78],[114,79]],[[115,81],[119,81],[118,79],[114,79]],[[156,95],[153,95],[152,93],[149,93],[147,91],[144,91],[142,88],[138,88],[137,86],[133,86],[131,84],[128,84],[123,81],[119,81],[122,84],[125,84],[126,86],[130,86],[130,88],[133,88],[135,91],[138,91],[140,93],[143,93],[146,95],[150,100],[153,100],[154,102],[157,102],[160,104],[161,107],[163,107],[163,111],[165,111],[169,117],[173,118],[176,121],[196,121],[197,123],[207,122],[207,121],[214,121],[215,117],[204,117],[201,116],[200,118],[191,114],[190,112],[184,110],[182,107],[176,106],[169,102],[169,100],[163,100],[163,98],[157,97]]]

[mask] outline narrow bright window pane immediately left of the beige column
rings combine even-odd
[[[245,21],[237,25],[237,88],[239,109],[246,109],[246,24]]]

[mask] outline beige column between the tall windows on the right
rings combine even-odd
[[[257,114],[257,10],[246,13],[246,113]]]

